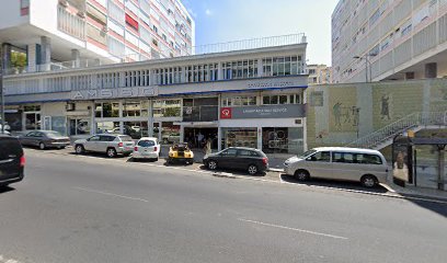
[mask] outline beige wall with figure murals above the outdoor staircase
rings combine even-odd
[[[346,145],[415,112],[446,112],[447,79],[313,85],[307,99],[309,148]]]

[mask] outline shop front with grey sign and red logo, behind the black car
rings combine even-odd
[[[305,151],[305,105],[220,108],[220,149],[250,147],[272,155]]]

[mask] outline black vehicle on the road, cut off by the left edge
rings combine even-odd
[[[0,135],[0,185],[23,180],[25,157],[18,138]]]

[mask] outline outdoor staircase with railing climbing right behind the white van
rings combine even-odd
[[[392,144],[397,135],[412,130],[447,128],[447,112],[412,113],[392,124],[389,124],[365,137],[358,138],[346,147],[383,149]]]

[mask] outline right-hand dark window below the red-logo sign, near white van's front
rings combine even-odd
[[[301,127],[262,128],[262,150],[265,153],[301,153],[303,151],[302,136]]]

